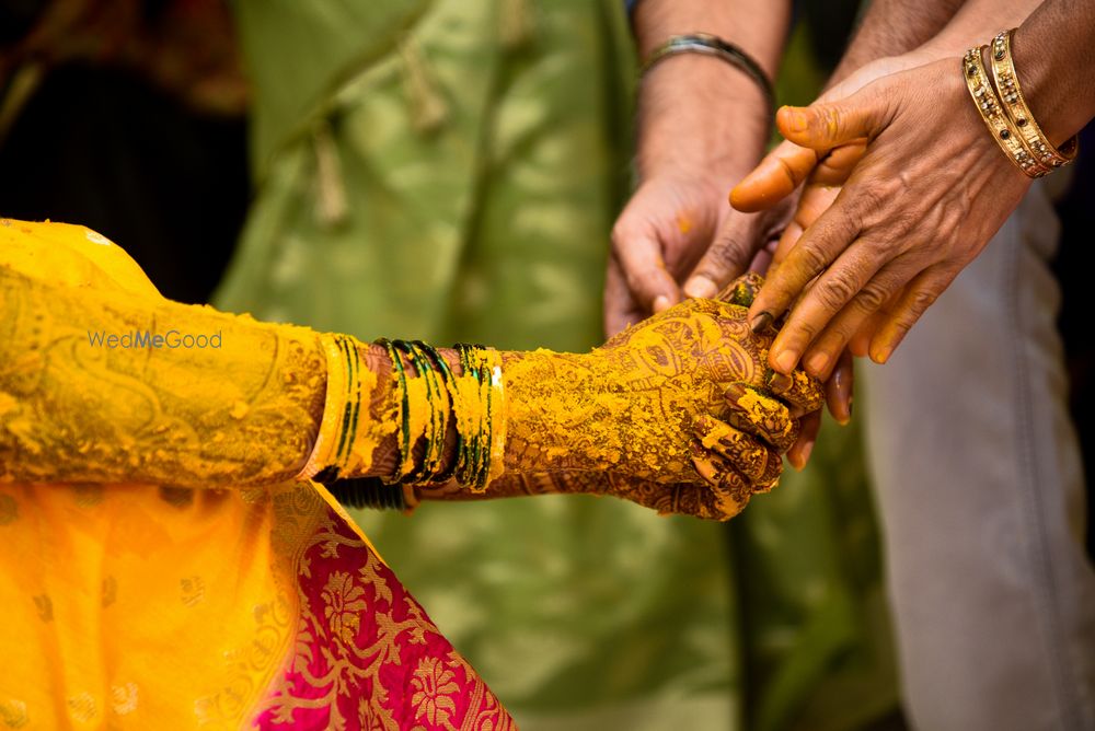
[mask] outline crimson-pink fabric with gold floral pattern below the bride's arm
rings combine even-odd
[[[517,728],[391,569],[331,510],[303,543],[297,582],[292,658],[260,704],[254,726]]]

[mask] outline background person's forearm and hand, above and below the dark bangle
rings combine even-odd
[[[748,0],[644,0],[632,15],[639,58],[673,35],[711,33],[739,45],[774,77],[791,3],[757,12]],[[734,65],[699,54],[662,59],[638,90],[638,187],[612,233],[604,292],[609,336],[682,298],[680,282],[708,252],[728,216],[726,188],[763,154],[771,109],[763,91]],[[722,247],[711,252],[715,262]],[[712,269],[717,269],[718,275]],[[704,269],[714,297],[740,274]]]

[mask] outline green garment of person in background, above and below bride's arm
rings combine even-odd
[[[257,198],[219,306],[362,339],[601,339],[620,0],[235,8]],[[744,728],[747,705],[756,728],[854,728],[894,688],[863,476],[841,479],[788,479],[729,529],[586,497],[356,518],[522,729]]]

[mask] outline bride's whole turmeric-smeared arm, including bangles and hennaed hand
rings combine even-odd
[[[365,345],[134,291],[0,266],[0,481],[378,476],[424,494],[609,491],[725,519],[779,473],[730,427],[721,449],[749,478],[708,490],[693,468],[695,419],[726,408],[728,385],[765,386],[768,340],[744,306],[691,301],[570,355]],[[752,428],[779,443],[792,425],[770,411]]]

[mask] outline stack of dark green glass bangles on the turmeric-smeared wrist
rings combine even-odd
[[[394,403],[377,419],[369,413],[376,375],[360,367],[357,341],[344,335],[324,335],[322,340],[326,403],[300,477],[328,486],[341,502],[355,508],[410,510],[417,506],[415,486],[456,480],[461,488],[483,492],[502,473],[506,413],[497,351],[454,346],[460,363],[456,373],[420,340],[378,340],[391,359]],[[390,475],[344,477],[367,472],[372,452],[393,431],[399,459]],[[416,457],[419,440],[424,449]]]

